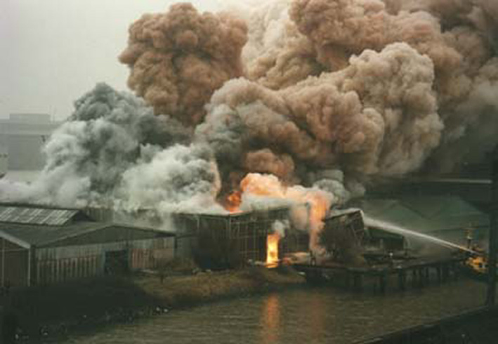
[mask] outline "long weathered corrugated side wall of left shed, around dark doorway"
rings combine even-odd
[[[37,249],[37,284],[105,274],[105,253],[112,251],[126,251],[131,270],[154,269],[173,259],[174,237]]]

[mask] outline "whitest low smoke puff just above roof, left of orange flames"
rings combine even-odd
[[[115,194],[127,212],[155,209],[159,214],[178,211],[223,213],[215,199],[219,191],[218,169],[207,147],[175,145],[148,151],[126,170]]]

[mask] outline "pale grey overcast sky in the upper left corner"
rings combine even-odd
[[[128,27],[172,0],[0,0],[0,117],[43,112],[63,119],[100,81],[126,89],[117,61]],[[214,11],[221,0],[191,1]]]

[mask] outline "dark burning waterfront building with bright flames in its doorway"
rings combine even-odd
[[[300,208],[308,211],[308,206]],[[111,209],[86,209],[103,221],[123,222],[138,214],[120,214]],[[285,253],[309,250],[306,228],[297,228],[293,209],[276,206],[237,213],[171,213],[168,220],[155,211],[141,210],[140,217],[152,227],[162,225],[175,233],[178,259],[194,259],[207,269],[240,267],[251,263],[277,263]],[[162,214],[164,216],[164,214]]]

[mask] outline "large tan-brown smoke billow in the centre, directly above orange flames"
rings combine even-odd
[[[287,180],[334,167],[383,176],[419,168],[443,131],[431,59],[393,44],[349,63],[279,91],[229,81],[211,99],[197,135],[220,153],[219,161],[231,161],[232,170]],[[220,147],[234,137],[237,143],[227,147],[239,153],[229,157]]]

